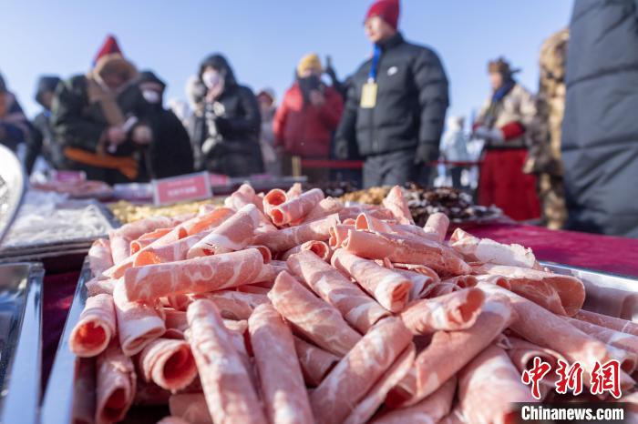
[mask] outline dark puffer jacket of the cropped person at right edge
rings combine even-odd
[[[562,160],[567,227],[638,237],[638,10],[579,0],[571,16]]]

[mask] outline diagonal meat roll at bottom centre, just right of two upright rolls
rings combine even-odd
[[[311,393],[317,422],[343,422],[411,340],[399,318],[385,318],[371,328]]]

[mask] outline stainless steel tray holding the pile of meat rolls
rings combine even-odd
[[[601,291],[601,288],[611,288],[619,290],[623,295],[638,297],[638,278],[633,279],[614,276],[603,272],[571,268],[547,262],[542,263],[542,265],[550,268],[557,274],[572,275],[574,277],[581,278],[587,290],[588,300],[585,302],[585,309],[604,313],[605,308],[601,308],[596,301],[597,299],[604,300],[605,298],[601,296],[594,296],[597,291]],[[46,386],[41,415],[41,422],[43,424],[67,424],[71,420],[75,395],[74,380],[79,367],[79,362],[77,361],[76,356],[71,353],[68,348],[68,339],[70,338],[71,331],[76,325],[77,319],[87,302],[87,289],[85,288],[84,283],[90,278],[91,273],[87,267],[87,262],[85,261],[79,281],[77,282],[73,303],[69,309],[64,333],[62,338],[60,338],[60,344],[57,347],[56,358],[51,371],[51,376]],[[590,296],[590,294],[592,294],[592,296]],[[629,313],[631,319],[638,322],[638,308],[635,308],[635,305]],[[616,315],[616,317],[618,316],[619,315]],[[625,314],[625,317],[626,316],[627,315]]]

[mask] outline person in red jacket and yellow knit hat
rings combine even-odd
[[[283,96],[273,120],[275,146],[283,146],[283,174],[292,174],[293,156],[327,159],[334,130],[344,110],[339,93],[321,81],[319,57],[304,56],[297,79]],[[306,168],[309,181],[328,179],[327,168]]]

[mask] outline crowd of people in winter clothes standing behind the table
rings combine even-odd
[[[468,141],[481,140],[479,203],[518,220],[540,217],[552,228],[638,237],[635,201],[619,201],[619,190],[638,194],[632,184],[638,124],[628,112],[638,96],[626,79],[638,57],[613,55],[620,45],[638,44],[636,19],[623,2],[587,0],[575,8],[571,30],[541,47],[538,94],[517,82],[518,70],[506,59],[489,61],[491,96],[469,134],[463,117],[448,116],[444,125],[448,77],[437,53],[399,32],[398,0],[377,0],[365,15],[373,54],[345,81],[329,58],[323,64],[309,54],[277,103],[273,90],[253,93],[229,60],[214,54],[187,83],[189,105],[166,108],[165,83],[139,72],[109,36],[87,74],[40,78],[42,112],[33,121],[0,77],[0,142],[14,150],[24,142],[29,173],[41,156],[48,167],[84,171],[109,184],[199,170],[230,177],[303,172],[319,182],[334,173],[302,171],[300,159],[336,159],[363,161],[362,172],[338,176],[362,178],[364,187],[428,185],[432,164],[443,159],[451,183],[462,188],[464,162],[472,158]],[[613,19],[615,32],[595,25]],[[595,35],[585,30],[590,26]],[[610,118],[623,102],[615,109],[621,116]],[[620,121],[624,129],[615,125]]]

